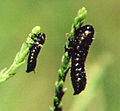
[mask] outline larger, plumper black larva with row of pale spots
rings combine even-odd
[[[85,25],[75,28],[75,39],[69,39],[68,54],[72,57],[71,80],[74,95],[79,94],[86,86],[86,72],[84,68],[89,47],[93,41],[94,28]]]

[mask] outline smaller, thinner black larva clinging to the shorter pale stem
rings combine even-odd
[[[35,34],[35,38],[32,38],[35,43],[31,44],[33,45],[29,50],[30,54],[27,61],[27,70],[26,72],[34,71],[36,67],[37,62],[37,56],[40,52],[41,46],[44,44],[46,36],[44,33],[39,33],[38,35]]]

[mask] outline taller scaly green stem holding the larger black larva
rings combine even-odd
[[[75,17],[74,22],[72,24],[71,32],[68,34],[68,38],[74,38],[75,35],[75,28],[79,28],[87,15],[86,9],[83,7],[78,11],[77,17]],[[68,47],[69,41],[66,42],[66,47]],[[70,57],[68,55],[68,52],[65,52],[63,54],[62,60],[61,60],[61,67],[58,70],[58,80],[55,83],[55,96],[53,98],[53,108],[50,108],[50,111],[62,111],[62,97],[64,93],[66,92],[66,88],[63,88],[65,78],[67,75],[67,72],[69,71],[70,65],[69,65]]]

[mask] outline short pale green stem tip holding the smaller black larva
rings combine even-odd
[[[32,32],[27,37],[26,42],[22,44],[22,47],[20,51],[16,54],[12,65],[9,68],[4,68],[0,71],[0,83],[11,78],[16,73],[16,70],[25,62],[25,57],[29,53],[29,48],[32,46],[29,43],[34,42],[31,37],[34,37],[34,34],[38,33],[40,33],[40,27],[36,26],[32,29]]]

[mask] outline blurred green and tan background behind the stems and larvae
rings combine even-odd
[[[64,52],[65,33],[83,6],[85,24],[95,28],[87,61],[87,87],[73,96],[69,73],[63,111],[120,111],[120,0],[1,0],[0,69],[11,65],[27,35],[36,25],[47,40],[38,57],[36,73],[16,75],[0,85],[0,111],[48,111]],[[26,58],[27,59],[27,58]]]

